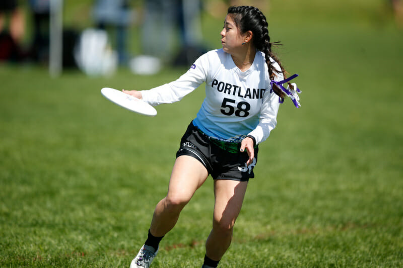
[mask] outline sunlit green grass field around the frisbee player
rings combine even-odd
[[[260,145],[219,266],[403,266],[402,31],[375,0],[273,1],[268,14],[280,58],[300,75],[302,108],[286,101]],[[212,47],[222,21],[204,16]],[[49,78],[43,67],[0,65],[0,266],[128,267],[204,88],[154,118],[100,89],[148,89],[184,71]],[[212,186],[185,207],[153,267],[201,266]]]

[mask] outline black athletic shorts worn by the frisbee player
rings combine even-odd
[[[226,149],[227,147],[233,149]],[[253,163],[246,166],[249,156],[246,150],[240,152],[240,148],[240,142],[217,141],[201,132],[191,122],[180,141],[176,157],[188,155],[196,158],[207,168],[214,180],[248,182],[249,178],[254,177],[253,167],[256,165],[259,149],[255,147]]]

